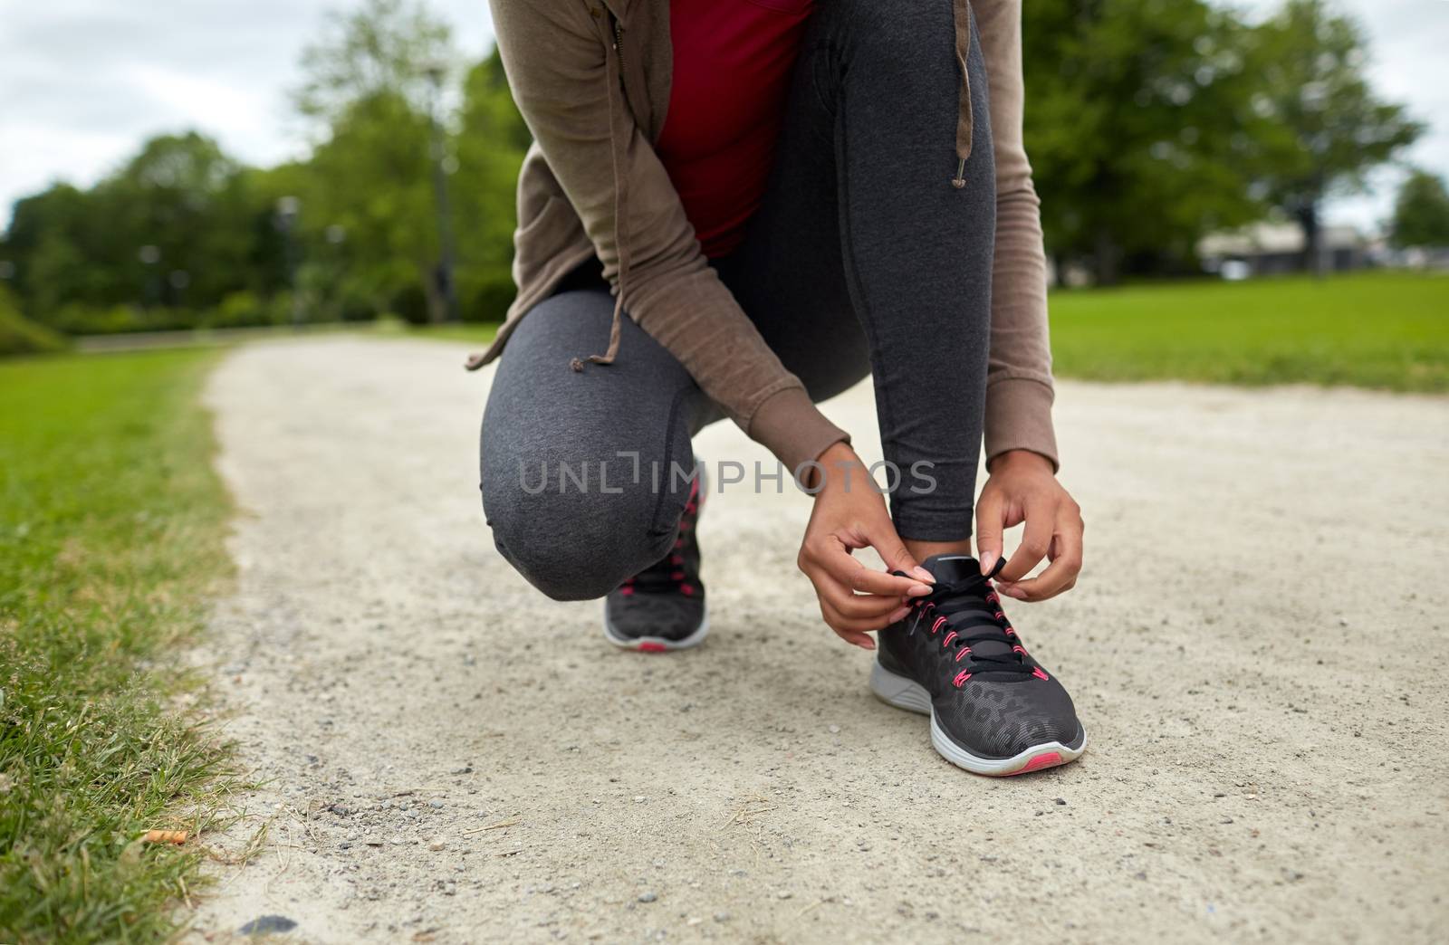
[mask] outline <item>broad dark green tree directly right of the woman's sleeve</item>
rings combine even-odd
[[[1026,145],[1058,272],[1088,258],[1182,265],[1207,229],[1246,223],[1255,117],[1246,28],[1206,0],[1023,6]]]

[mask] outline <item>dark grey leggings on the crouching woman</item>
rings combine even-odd
[[[952,0],[822,0],[764,203],[716,262],[814,400],[874,377],[885,458],[903,471],[933,464],[932,490],[903,478],[891,494],[897,530],[919,541],[969,536],[981,449],[995,181],[975,39],[968,68],[975,141],[966,186],[953,188]],[[688,468],[690,438],[720,416],[630,319],[616,364],[571,371],[569,358],[609,338],[611,312],[597,262],[535,306],[483,419],[494,542],[558,600],[600,597],[664,557],[688,484],[665,472],[656,487],[648,470]]]

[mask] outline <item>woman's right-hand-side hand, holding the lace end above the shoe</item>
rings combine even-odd
[[[1026,522],[1022,545],[1001,568],[997,590],[1017,600],[1046,600],[1077,584],[1082,570],[1082,510],[1052,472],[1052,462],[1026,449],[1001,454],[977,501],[977,558],[990,574],[1001,557],[1001,532]],[[1052,564],[1022,578],[1042,558]]]

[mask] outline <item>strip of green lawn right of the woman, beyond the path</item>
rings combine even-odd
[[[1355,272],[1052,294],[1056,374],[1449,390],[1449,277]]]

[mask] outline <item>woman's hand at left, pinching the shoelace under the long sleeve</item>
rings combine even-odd
[[[895,533],[865,464],[848,444],[836,444],[820,454],[823,484],[816,493],[814,510],[806,526],[796,564],[814,584],[820,616],[848,644],[875,649],[868,630],[880,630],[906,616],[906,599],[929,594],[930,573],[922,568]],[[851,551],[874,548],[885,571],[872,571],[856,561]],[[922,580],[895,577],[904,571]]]

